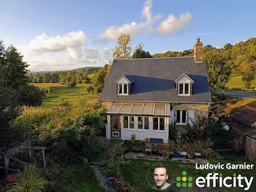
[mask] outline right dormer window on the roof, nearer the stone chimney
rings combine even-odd
[[[178,77],[175,82],[178,96],[192,95],[192,84],[194,81],[187,74],[181,74],[181,76]]]

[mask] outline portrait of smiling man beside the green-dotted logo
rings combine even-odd
[[[170,183],[167,183],[168,180],[168,170],[165,165],[157,164],[154,167],[154,188],[159,190],[164,190],[170,187]]]

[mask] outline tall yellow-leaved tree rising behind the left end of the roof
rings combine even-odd
[[[130,41],[131,37],[129,34],[121,34],[113,50],[113,58],[132,58],[132,47],[129,45]]]

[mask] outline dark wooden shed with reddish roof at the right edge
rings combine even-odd
[[[246,151],[246,157],[256,162],[256,109],[245,106],[230,115],[230,136]]]

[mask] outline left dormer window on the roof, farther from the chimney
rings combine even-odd
[[[117,81],[117,93],[120,96],[128,96],[134,80],[129,74],[123,74]]]

